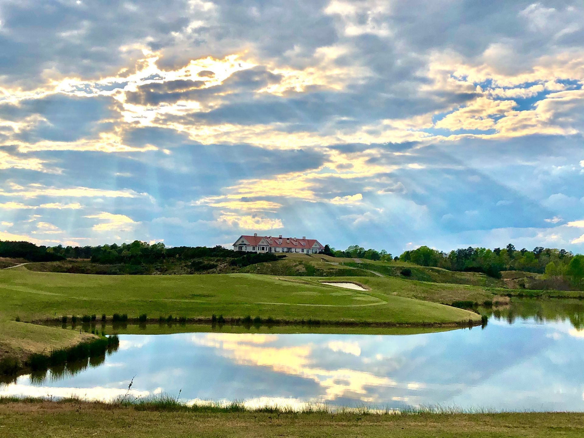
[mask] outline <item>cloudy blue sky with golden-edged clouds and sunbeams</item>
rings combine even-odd
[[[582,1],[0,2],[0,239],[584,252]]]

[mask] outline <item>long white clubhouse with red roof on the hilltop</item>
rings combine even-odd
[[[250,252],[297,252],[300,254],[317,254],[325,247],[316,239],[307,239],[305,236],[301,239],[296,237],[279,237],[258,236],[240,236],[233,244],[235,251]]]

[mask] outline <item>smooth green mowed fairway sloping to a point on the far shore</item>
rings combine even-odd
[[[130,318],[217,314],[414,325],[480,319],[472,312],[387,292],[377,283],[371,290],[356,291],[257,274],[99,276],[31,272],[23,267],[0,272],[0,311],[4,319],[18,315],[23,321],[113,313]]]

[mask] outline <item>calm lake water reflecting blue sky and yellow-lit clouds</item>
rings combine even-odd
[[[481,329],[414,335],[120,335],[77,370],[20,376],[0,394],[331,406],[584,411],[584,303],[523,300]]]

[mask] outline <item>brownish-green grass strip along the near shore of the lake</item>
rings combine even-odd
[[[81,408],[81,409],[80,409]],[[138,437],[581,437],[579,413],[361,415],[159,412],[77,402],[0,405],[2,436]]]

